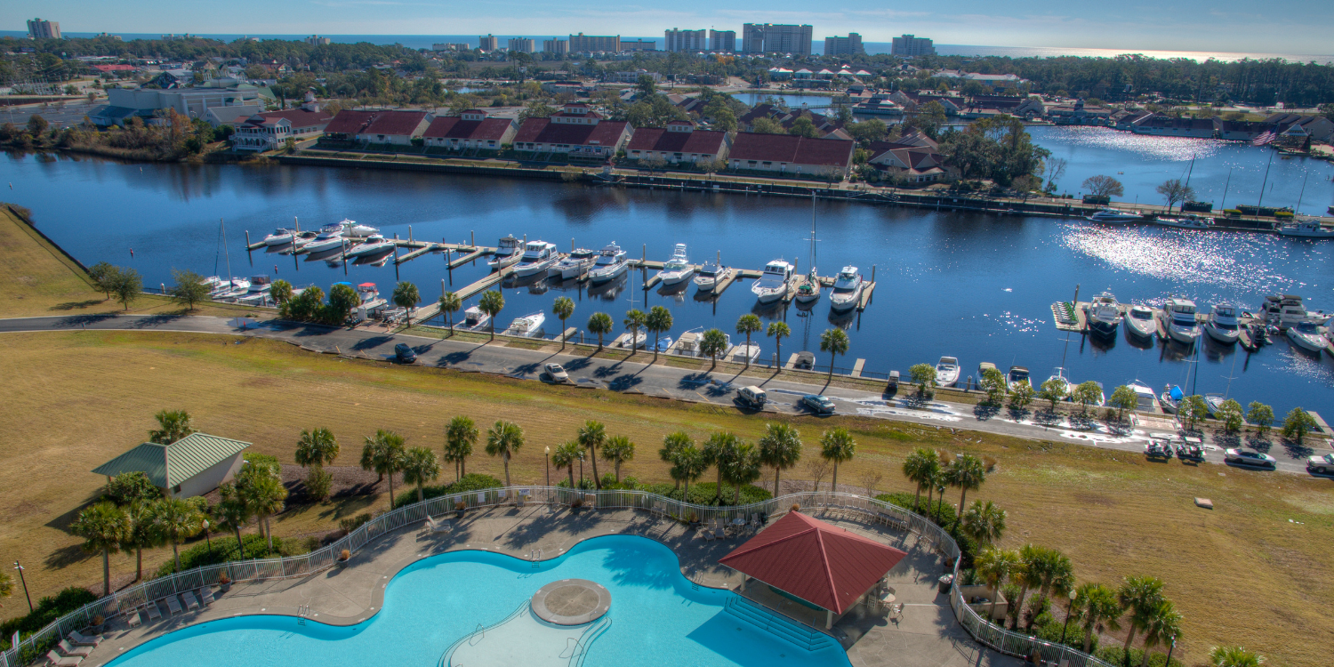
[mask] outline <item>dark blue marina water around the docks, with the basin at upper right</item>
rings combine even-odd
[[[1125,172],[1118,177],[1126,183],[1126,200],[1151,199],[1153,185],[1165,175],[1179,176],[1195,155],[1191,184],[1205,192],[1205,200],[1221,197],[1223,179],[1233,169],[1227,195],[1233,205],[1259,192],[1269,157],[1245,145],[1113,131],[1034,128],[1034,133],[1070,160],[1059,183],[1063,188],[1075,189],[1093,173]],[[1269,180],[1274,189],[1273,195],[1266,189],[1265,203],[1295,204],[1306,172],[1302,196],[1313,204],[1303,208],[1314,203],[1323,208],[1334,169],[1302,159],[1273,161]],[[301,228],[351,217],[400,237],[411,227],[416,239],[467,241],[475,233],[482,244],[495,244],[506,233],[540,237],[562,249],[570,248],[571,239],[594,249],[618,241],[631,256],[647,248],[648,257],[658,260],[667,259],[672,244],[687,243],[695,261],[720,252],[724,263],[746,268],[762,268],[775,257],[798,260],[803,272],[810,264],[808,200],[392,171],[120,164],[32,155],[0,161],[0,181],[12,184],[4,199],[29,207],[37,225],[81,261],[132,265],[149,285],[169,283],[172,268],[225,275],[217,243],[220,217],[225,219],[231,273],[276,273],[325,291],[344,280],[343,268],[321,261],[301,261],[296,268],[289,256],[263,252],[248,257],[244,231],[259,240],[273,227],[289,225],[293,216]],[[1122,301],[1159,304],[1181,293],[1202,309],[1221,300],[1254,308],[1266,293],[1298,293],[1307,308],[1334,312],[1334,241],[836,201],[819,201],[815,217],[822,273],[852,264],[870,277],[875,267],[874,301],[850,321],[831,323],[827,296],[808,313],[795,307],[763,309],[748,281],[712,301],[698,299],[692,287],[678,295],[659,289],[646,295],[631,287],[638,273],[610,291],[595,288],[592,295],[578,285],[507,287],[499,321],[547,311],[547,334],[555,335],[559,323],[550,308],[560,295],[576,300],[571,324],[580,328],[592,312],[606,311],[619,323],[631,307],[668,307],[675,316],[671,336],[696,327],[732,331],[740,315],[756,312],[764,320],[786,319],[792,328],[792,339],[783,342],[784,358],[799,350],[818,352],[820,332],[848,327],[851,350],[836,366],[850,368],[862,358],[868,375],[906,371],[950,355],[960,359],[964,376],[975,375],[980,362],[1027,366],[1038,380],[1063,366],[1074,382],[1098,380],[1109,392],[1137,378],[1153,387],[1191,379],[1201,394],[1229,391],[1243,404],[1262,400],[1275,411],[1301,404],[1334,414],[1334,363],[1329,355],[1302,354],[1286,339],[1255,354],[1205,343],[1191,355],[1175,344],[1139,347],[1123,332],[1113,343],[1066,335],[1055,329],[1050,309],[1079,285],[1081,299],[1111,288]],[[439,296],[442,279],[447,287],[451,279],[439,255],[403,264],[400,272],[427,300]],[[454,271],[452,285],[484,273],[483,264],[463,267]],[[392,264],[352,267],[347,279],[376,283],[388,293],[395,271]],[[732,339],[739,342],[735,334]],[[770,359],[772,340],[760,346]],[[818,360],[828,364],[827,355],[818,354]]]

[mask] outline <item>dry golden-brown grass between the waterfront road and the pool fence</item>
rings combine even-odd
[[[43,301],[49,308],[89,299],[87,289],[80,296],[76,283],[15,280],[16,252],[33,253],[35,247],[0,243],[0,280],[8,279],[24,296],[5,301],[7,307]],[[27,275],[59,279],[61,269],[52,261],[29,267]],[[252,442],[256,451],[288,463],[299,430],[329,427],[343,444],[338,466],[355,466],[362,438],[376,428],[402,432],[410,446],[439,447],[452,415],[470,415],[483,427],[512,419],[528,434],[511,466],[514,479],[523,483],[540,482],[543,447],[572,438],[588,418],[638,443],[639,455],[624,474],[646,480],[666,479],[656,448],[670,431],[684,428],[703,439],[728,430],[755,439],[766,422],[719,406],[404,370],[271,340],[237,344],[228,336],[107,331],[11,334],[4,340],[7,371],[23,382],[0,386],[7,407],[0,412],[7,443],[0,448],[0,562],[23,560],[35,596],[100,582],[100,559],[83,554],[80,540],[67,532],[103,483],[87,471],[141,442],[152,414],[164,407],[188,410],[201,431]],[[1167,595],[1186,616],[1177,655],[1185,652],[1189,663],[1202,662],[1210,646],[1223,643],[1259,650],[1275,666],[1326,662],[1323,647],[1334,636],[1329,480],[1154,464],[1126,452],[954,435],[855,416],[782,419],[794,419],[800,428],[807,459],[815,456],[822,430],[851,428],[858,454],[840,468],[839,479],[860,486],[866,472],[880,472],[880,492],[911,491],[898,471],[916,446],[996,458],[999,470],[968,498],[994,500],[1010,512],[1003,546],[1034,542],[1063,548],[1081,580],[1163,578]],[[468,470],[502,474],[500,463],[480,447]],[[558,474],[552,471],[554,479]],[[806,476],[804,466],[786,475]],[[292,507],[275,528],[284,536],[327,532],[339,518],[382,510],[384,491],[387,484],[380,484],[374,495]],[[1211,498],[1217,508],[1194,507],[1195,496]],[[951,491],[948,499],[958,502],[958,494]],[[145,560],[156,567],[167,558],[169,550],[156,550]],[[129,556],[113,558],[113,572],[123,582],[132,567]],[[11,599],[0,614],[24,608]]]

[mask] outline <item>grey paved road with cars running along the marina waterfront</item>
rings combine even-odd
[[[195,331],[260,336],[297,343],[316,351],[336,351],[371,359],[394,359],[394,346],[408,343],[418,352],[418,366],[455,368],[508,375],[526,380],[542,380],[543,364],[559,363],[570,372],[574,384],[624,392],[639,392],[680,400],[695,400],[742,407],[736,403],[736,388],[760,384],[768,403],[763,412],[802,414],[800,398],[806,394],[824,394],[834,399],[838,412],[871,418],[894,419],[936,428],[983,431],[1018,438],[1067,442],[1130,452],[1142,452],[1150,436],[1175,436],[1167,420],[1137,420],[1130,428],[1113,431],[1106,424],[1090,422],[1071,423],[1061,418],[1043,420],[1041,415],[1014,415],[1009,410],[994,411],[979,406],[928,402],[916,404],[904,396],[876,394],[864,390],[800,384],[787,379],[739,379],[726,372],[692,371],[660,364],[650,364],[650,354],[640,352],[631,360],[614,360],[487,346],[459,340],[438,340],[402,334],[383,334],[364,329],[329,328],[319,325],[248,320],[244,328],[239,320],[212,316],[179,315],[73,315],[60,317],[0,319],[0,332],[20,331],[75,331],[128,329],[128,331]],[[744,410],[744,408],[743,408]],[[1321,443],[1321,440],[1313,440]],[[1319,444],[1327,451],[1326,444]],[[1222,447],[1206,438],[1206,464],[1225,464]],[[1315,454],[1310,448],[1275,444],[1269,454],[1278,459],[1278,470],[1306,475],[1305,458]],[[1230,466],[1231,467],[1231,466]]]

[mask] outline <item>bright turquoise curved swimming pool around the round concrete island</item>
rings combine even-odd
[[[758,610],[740,614],[730,610],[739,600],[730,591],[692,590],[679,574],[676,555],[670,548],[630,535],[582,542],[536,568],[526,560],[484,551],[442,554],[400,571],[386,588],[384,607],[364,623],[297,626],[291,616],[212,620],[147,642],[109,664],[432,667],[478,624],[500,623],[543,586],[575,578],[596,582],[611,592],[607,612],[611,622],[588,646],[583,656],[586,667],[850,664],[831,640],[808,650],[746,620]],[[508,636],[530,636],[519,630]],[[491,630],[487,634],[506,636]],[[503,648],[516,660],[508,664],[523,667],[524,647],[515,643],[519,642],[507,640]],[[474,660],[475,656],[476,651]]]

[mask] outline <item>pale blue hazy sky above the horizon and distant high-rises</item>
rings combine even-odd
[[[818,8],[818,11],[815,9]],[[8,0],[0,29],[33,16],[67,32],[328,33],[328,35],[590,35],[662,36],[664,28],[740,31],[743,23],[810,23],[815,39],[859,32],[888,41],[904,32],[940,44],[1163,51],[1330,53],[1334,3],[1185,0],[1177,3],[1023,3],[954,0],[887,5],[775,0],[748,7],[706,0],[564,3],[490,0]]]

